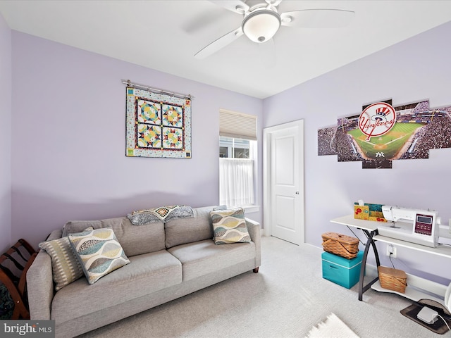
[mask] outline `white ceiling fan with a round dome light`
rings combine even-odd
[[[210,0],[214,4],[243,15],[240,27],[216,39],[194,54],[195,58],[206,58],[227,46],[235,39],[246,35],[252,42],[262,44],[271,41],[280,26],[286,27],[345,27],[354,17],[353,11],[342,9],[299,9],[278,12],[282,0],[265,0],[249,6],[241,0]]]

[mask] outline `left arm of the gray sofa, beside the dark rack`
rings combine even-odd
[[[51,232],[47,240],[61,237],[61,230]],[[51,258],[40,250],[27,271],[28,306],[31,320],[50,320],[51,301],[54,299],[54,276]]]

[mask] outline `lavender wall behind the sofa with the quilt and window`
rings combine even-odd
[[[37,244],[68,220],[218,204],[219,108],[261,123],[261,99],[16,31],[12,38],[13,238]],[[121,79],[194,96],[192,158],[125,157]]]

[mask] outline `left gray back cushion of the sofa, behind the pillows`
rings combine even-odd
[[[63,227],[63,237],[71,232],[81,232],[87,227],[94,229],[111,227],[128,258],[165,249],[163,222],[137,227],[132,225],[126,217],[104,220],[71,220]]]

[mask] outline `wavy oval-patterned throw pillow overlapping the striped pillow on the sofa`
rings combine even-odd
[[[68,239],[89,284],[130,263],[112,229],[69,234]]]

